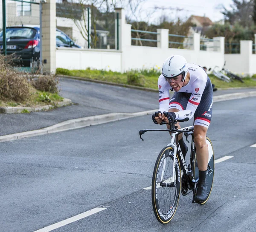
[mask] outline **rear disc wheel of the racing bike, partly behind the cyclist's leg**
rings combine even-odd
[[[212,172],[207,173],[206,184],[207,184],[208,195],[207,195],[207,199],[204,202],[198,202],[198,204],[201,204],[201,205],[205,204],[208,201],[209,196],[212,192],[212,185],[213,185],[213,179],[214,179],[214,170],[215,170],[214,152],[213,152],[212,142],[208,137],[206,137],[206,142],[207,142],[207,147],[208,147],[208,151],[209,151],[208,164],[212,168]],[[208,168],[207,168],[207,170],[208,170]],[[193,175],[194,175],[195,179],[198,178],[198,165],[197,165],[197,161],[196,161],[196,153],[195,153],[195,159],[194,159]]]

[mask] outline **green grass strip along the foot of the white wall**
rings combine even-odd
[[[151,68],[150,70],[132,70],[131,72],[134,73],[140,73],[143,76],[145,76],[143,83],[143,87],[145,88],[152,88],[152,89],[158,89],[157,88],[157,80],[158,76],[161,74],[160,68]],[[62,74],[67,76],[79,76],[84,77],[88,79],[96,79],[101,81],[107,81],[107,82],[113,82],[113,83],[119,83],[119,84],[128,84],[127,79],[127,73],[119,73],[119,72],[113,72],[113,71],[101,71],[101,70],[67,70],[64,68],[57,68],[56,74]],[[234,88],[234,87],[252,87],[256,86],[256,81],[253,80],[250,77],[243,78],[244,83],[241,83],[238,80],[234,80],[230,83],[224,82],[217,77],[213,76],[212,74],[209,74],[209,78],[212,81],[212,84],[215,84],[216,88]]]

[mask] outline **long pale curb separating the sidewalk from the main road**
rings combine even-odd
[[[253,96],[256,96],[256,91],[224,94],[221,96],[214,96],[213,102],[228,101],[228,100],[241,99],[241,98],[253,97]],[[129,119],[133,117],[153,114],[157,110],[158,109],[154,109],[154,110],[147,110],[147,111],[136,112],[136,113],[108,113],[108,114],[102,114],[99,116],[70,119],[49,127],[45,127],[41,130],[30,130],[30,131],[21,132],[21,133],[0,136],[0,142],[57,133],[57,132],[62,132],[66,130],[74,130],[74,129],[79,129],[83,127],[88,127],[88,126],[93,126],[93,125],[98,125],[98,124],[103,124],[108,122],[116,122],[123,119]]]

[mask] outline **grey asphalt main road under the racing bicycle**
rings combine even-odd
[[[208,136],[215,159],[233,158],[215,165],[207,204],[181,195],[167,225],[158,223],[151,191],[143,189],[169,141],[166,132],[148,132],[140,140],[140,129],[159,127],[151,116],[3,142],[0,231],[32,232],[96,207],[106,209],[55,231],[254,231],[255,115],[255,97],[213,105]]]

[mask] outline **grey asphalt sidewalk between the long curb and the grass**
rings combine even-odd
[[[0,114],[0,136],[38,130],[70,119],[106,113],[134,113],[158,108],[158,93],[123,88],[74,79],[60,79],[61,96],[73,105],[45,112]],[[214,96],[256,91],[252,89],[221,90]]]

